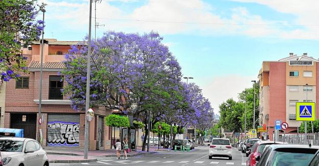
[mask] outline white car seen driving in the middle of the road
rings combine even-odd
[[[210,146],[209,159],[212,159],[212,157],[228,157],[230,160],[233,159],[233,150],[229,139],[214,138],[208,146]]]

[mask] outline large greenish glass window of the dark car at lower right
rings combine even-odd
[[[274,151],[267,165],[303,166],[308,165],[317,149],[308,148],[280,148]]]

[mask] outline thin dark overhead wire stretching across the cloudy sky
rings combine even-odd
[[[202,25],[242,25],[242,26],[283,26],[283,27],[319,27],[319,25],[284,25],[284,24],[263,24],[263,23],[219,23],[219,22],[186,22],[186,21],[155,21],[142,19],[126,19],[126,18],[96,18],[109,20],[123,20],[123,21],[138,21],[138,22],[154,22],[154,23],[180,23],[180,24],[202,24]]]

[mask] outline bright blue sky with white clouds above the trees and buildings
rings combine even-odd
[[[89,1],[42,0],[44,38],[82,41]],[[319,58],[316,0],[102,0],[93,3],[92,36],[158,32],[219,114],[218,106],[252,87],[262,61],[289,53]],[[95,11],[98,26],[95,31]],[[41,18],[41,16],[39,16]]]

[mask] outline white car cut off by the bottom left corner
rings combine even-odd
[[[4,166],[49,166],[47,152],[34,139],[0,137],[0,151]]]

